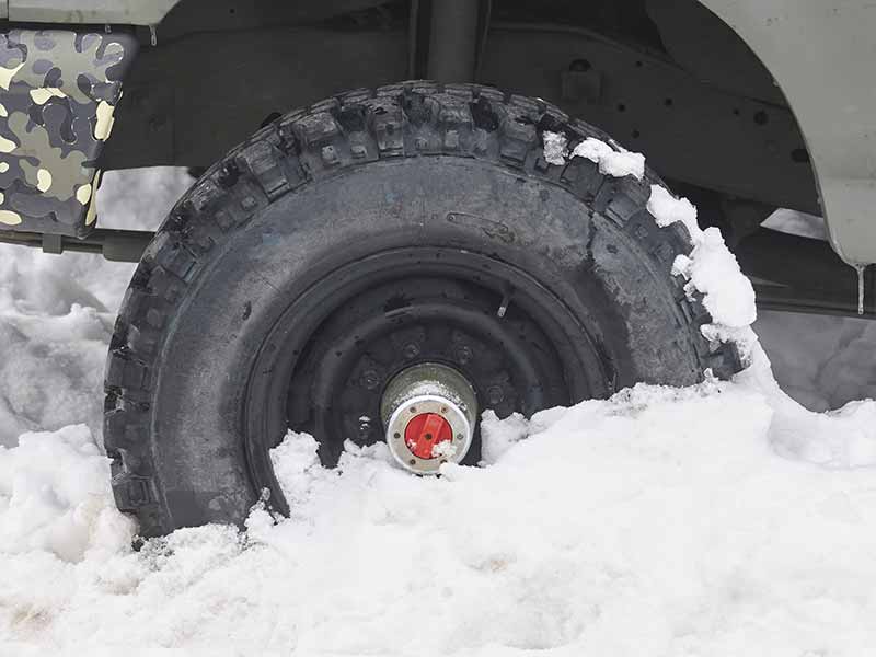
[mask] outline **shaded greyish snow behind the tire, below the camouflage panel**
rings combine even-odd
[[[101,223],[155,229],[188,184],[184,170],[110,172]],[[106,345],[134,267],[0,245],[0,446],[78,423],[100,436]]]

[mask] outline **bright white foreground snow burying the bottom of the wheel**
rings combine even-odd
[[[762,384],[638,385],[526,427],[493,417],[494,462],[441,479],[402,472],[383,445],[324,470],[290,434],[273,456],[291,519],[257,509],[246,534],[184,530],[136,554],[95,553],[81,529],[94,523],[74,525],[77,563],[45,539],[3,554],[0,635],[241,654],[868,654],[874,404],[798,414],[786,434]],[[41,476],[51,491],[79,479]]]

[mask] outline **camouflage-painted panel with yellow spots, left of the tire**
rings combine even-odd
[[[0,230],[84,237],[132,34],[0,34]]]

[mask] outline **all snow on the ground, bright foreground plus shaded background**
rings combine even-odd
[[[102,222],[154,227],[186,185],[111,174]],[[0,655],[876,652],[876,403],[807,411],[757,345],[734,382],[487,416],[487,466],[440,480],[382,446],[325,471],[290,435],[273,457],[291,519],[132,552],[99,447],[131,270],[0,246]],[[810,407],[876,396],[876,323],[756,328]]]

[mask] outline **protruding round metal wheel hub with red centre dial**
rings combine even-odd
[[[390,381],[381,415],[395,461],[417,474],[459,463],[472,443],[477,414],[474,390],[445,365],[415,365]]]

